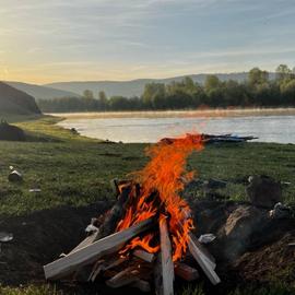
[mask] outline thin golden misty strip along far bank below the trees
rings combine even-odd
[[[47,115],[58,116],[64,119],[294,116],[295,108],[217,108],[196,110],[51,113]]]

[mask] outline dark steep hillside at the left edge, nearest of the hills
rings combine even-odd
[[[0,82],[0,114],[40,114],[35,98],[7,83]]]

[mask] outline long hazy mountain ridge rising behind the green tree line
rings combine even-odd
[[[83,94],[85,90],[91,90],[97,97],[99,91],[104,91],[107,96],[121,95],[126,97],[140,96],[143,93],[144,85],[151,82],[170,83],[172,81],[181,81],[185,76],[190,76],[194,82],[203,84],[209,74],[191,74],[167,79],[138,79],[131,81],[76,81],[76,82],[56,82],[45,84],[47,87],[54,87],[61,91],[68,91]],[[246,81],[248,72],[237,73],[216,73],[221,81],[235,80]],[[270,73],[270,79],[274,79],[274,73]]]

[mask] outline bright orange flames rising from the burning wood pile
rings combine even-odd
[[[192,172],[186,170],[187,157],[193,151],[202,149],[201,134],[187,134],[185,138],[174,139],[172,142],[162,141],[150,146],[146,154],[151,161],[138,173],[142,186],[140,198],[135,202],[131,202],[123,220],[118,224],[117,231],[154,216],[158,206],[164,204],[165,213],[169,215],[173,260],[179,260],[187,250],[188,234],[193,228],[190,208],[179,197],[179,192],[184,190],[185,182],[193,177]],[[157,196],[157,199],[151,198],[151,196]],[[156,203],[156,200],[161,203]],[[139,246],[146,251],[156,252],[160,247],[150,246],[153,239],[154,234],[149,234],[142,239],[135,238],[123,251]]]

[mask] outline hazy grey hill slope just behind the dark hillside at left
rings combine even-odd
[[[14,82],[14,81],[5,81],[7,84],[11,85],[14,88],[17,88],[20,91],[23,91],[33,97],[38,99],[50,99],[50,98],[61,98],[66,96],[72,96],[78,97],[80,96],[76,93],[73,93],[71,91],[63,91],[63,90],[57,90],[54,87],[43,86],[43,85],[36,85],[36,84],[30,84],[30,83],[23,83],[23,82]]]

